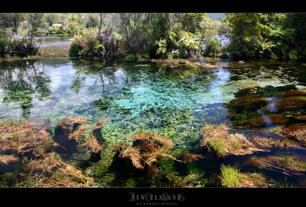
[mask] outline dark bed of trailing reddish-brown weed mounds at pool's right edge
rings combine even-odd
[[[238,95],[239,97],[229,101],[227,105],[230,112],[229,116],[234,126],[253,129],[282,126],[282,129],[278,129],[280,131],[276,132],[278,135],[297,137],[297,140],[304,142],[303,130],[295,132],[294,129],[289,130],[289,128],[295,124],[299,128],[305,125],[306,92],[303,90],[290,90],[292,88],[292,85],[285,87],[267,86],[264,91],[258,88],[253,95],[247,94],[242,97]],[[242,91],[250,91],[250,89],[245,88]],[[257,97],[261,97],[266,101],[256,102]],[[251,99],[254,100],[252,101]],[[243,103],[243,101],[245,102]],[[275,132],[271,133],[276,134]]]

